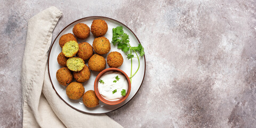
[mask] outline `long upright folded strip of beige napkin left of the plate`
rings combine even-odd
[[[42,118],[41,111],[39,111],[39,107],[42,106],[43,102],[39,103],[39,101],[44,82],[47,51],[51,45],[52,31],[61,15],[62,12],[56,7],[49,7],[28,21],[21,73],[23,127],[31,127],[31,124],[35,124],[35,127],[43,127],[45,124],[43,122],[45,119]],[[27,112],[30,115],[27,115]],[[36,123],[32,121],[36,121]]]

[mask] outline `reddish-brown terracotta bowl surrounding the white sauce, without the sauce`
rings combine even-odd
[[[128,82],[128,90],[126,91],[125,96],[124,96],[123,98],[117,100],[117,101],[109,101],[109,100],[103,98],[103,97],[101,96],[101,94],[99,93],[99,90],[98,90],[98,83],[99,83],[100,77],[101,77],[103,74],[107,73],[108,71],[118,71],[118,72],[122,73],[122,74],[126,77],[127,82]],[[97,96],[97,97],[99,98],[99,100],[102,101],[103,103],[106,103],[107,105],[117,105],[117,104],[119,104],[119,103],[125,101],[125,99],[129,96],[129,94],[130,94],[130,92],[131,92],[131,81],[130,81],[130,78],[126,75],[126,73],[124,73],[123,70],[118,69],[118,68],[107,68],[107,69],[105,69],[105,70],[102,70],[102,71],[98,74],[98,76],[96,77],[96,79],[95,79],[95,81],[94,81],[94,91],[95,91],[96,96]]]

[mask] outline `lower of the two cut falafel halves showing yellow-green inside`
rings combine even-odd
[[[84,66],[84,60],[81,58],[73,57],[67,60],[67,67],[71,71],[81,71]]]

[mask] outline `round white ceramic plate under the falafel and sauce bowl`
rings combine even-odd
[[[68,106],[70,106],[71,108],[74,108],[77,111],[81,111],[82,113],[90,113],[90,114],[103,114],[103,113],[108,113],[110,111],[116,110],[122,106],[124,106],[127,102],[129,102],[134,95],[139,91],[140,86],[143,82],[143,79],[145,77],[145,70],[146,70],[146,61],[145,61],[145,55],[143,57],[140,57],[140,68],[139,71],[137,72],[137,74],[135,76],[132,77],[132,84],[131,84],[131,93],[129,95],[129,97],[122,103],[120,103],[119,105],[114,105],[114,106],[110,106],[110,105],[106,105],[105,103],[102,103],[101,101],[99,102],[99,105],[97,107],[94,108],[87,108],[86,106],[83,105],[83,101],[82,98],[78,99],[78,100],[71,100],[67,97],[66,94],[66,87],[62,86],[58,83],[57,78],[56,78],[56,72],[58,69],[61,68],[61,66],[58,64],[57,61],[57,57],[58,54],[61,52],[61,47],[59,45],[59,38],[67,33],[72,33],[72,29],[73,27],[77,24],[77,23],[85,23],[87,26],[91,26],[92,21],[95,19],[102,19],[105,20],[108,24],[108,31],[105,35],[106,38],[109,39],[109,42],[112,41],[112,29],[117,27],[117,26],[123,26],[123,30],[126,34],[129,35],[130,38],[130,44],[132,46],[138,46],[138,44],[140,43],[139,39],[137,38],[137,36],[135,36],[135,34],[133,33],[133,31],[128,28],[127,26],[125,26],[123,23],[111,19],[111,18],[107,18],[107,17],[86,17],[86,18],[82,18],[79,20],[76,20],[72,23],[70,23],[67,27],[65,27],[60,33],[59,35],[55,38],[51,49],[50,49],[50,53],[49,53],[49,61],[48,61],[48,69],[49,69],[49,76],[51,79],[51,83],[52,83],[52,87],[55,90],[55,92],[57,93],[57,95],[59,95],[59,97],[65,102],[67,103]],[[87,39],[77,39],[78,43],[82,43],[82,42],[88,42],[89,44],[92,45],[92,42],[94,40],[94,36],[92,35],[92,33],[90,33],[89,38]],[[124,58],[124,62],[123,65],[121,67],[119,67],[119,69],[123,70],[128,76],[130,76],[131,74],[131,60],[128,60],[126,58],[126,55],[124,54],[124,52],[122,50],[117,49],[117,46],[113,46],[113,44],[111,44],[111,50],[112,51],[117,51],[119,53],[121,53],[123,55]],[[110,53],[109,52],[109,53]],[[103,57],[107,57],[107,54],[103,55]],[[135,73],[135,71],[138,68],[138,59],[133,58],[133,68],[132,68],[132,73]],[[86,65],[88,66],[88,61],[85,61]],[[106,68],[109,68],[108,65],[106,65]],[[85,88],[85,92],[88,90],[94,90],[93,86],[94,86],[94,80],[97,77],[99,73],[95,72],[95,71],[91,71],[91,77],[89,79],[89,81],[84,82],[84,88]],[[74,79],[73,79],[74,81]]]

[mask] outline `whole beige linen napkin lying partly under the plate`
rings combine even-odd
[[[23,127],[122,127],[105,114],[89,115],[74,110],[52,89],[47,52],[61,15],[56,7],[49,7],[28,21],[21,73]]]

